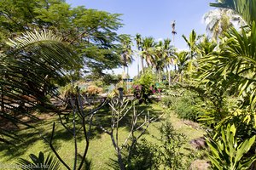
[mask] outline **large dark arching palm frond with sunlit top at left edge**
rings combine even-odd
[[[9,45],[9,51],[0,55],[0,117],[26,124],[17,115],[35,117],[27,112],[25,103],[47,109],[47,96],[55,95],[55,83],[65,82],[67,72],[79,68],[80,60],[51,31],[26,32]]]

